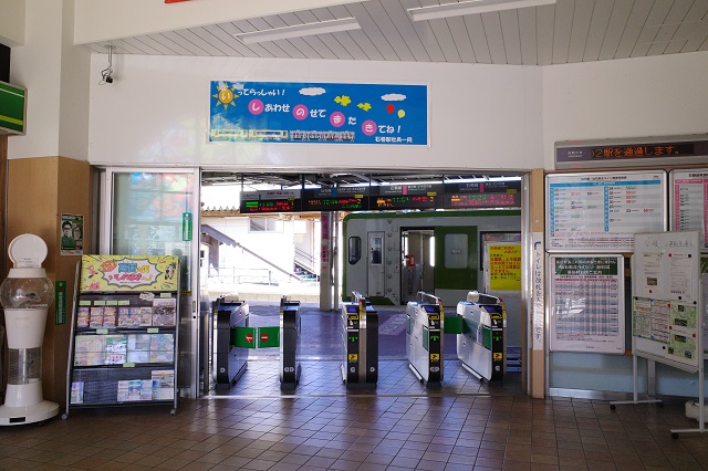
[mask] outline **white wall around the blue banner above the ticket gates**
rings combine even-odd
[[[542,165],[538,67],[121,55],[111,85],[91,75],[88,160],[96,165],[523,169]],[[212,80],[429,86],[430,146],[207,143]]]

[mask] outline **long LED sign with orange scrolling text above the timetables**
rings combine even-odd
[[[555,168],[649,167],[708,163],[708,135],[555,143]]]

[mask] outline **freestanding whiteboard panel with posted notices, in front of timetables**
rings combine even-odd
[[[636,234],[632,273],[634,355],[698,371],[704,302],[698,231]]]

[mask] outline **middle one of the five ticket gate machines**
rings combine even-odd
[[[342,380],[347,388],[376,387],[378,380],[378,313],[360,293],[342,303]]]

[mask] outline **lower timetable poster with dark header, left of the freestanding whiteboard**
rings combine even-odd
[[[624,354],[622,255],[551,255],[550,349]]]

